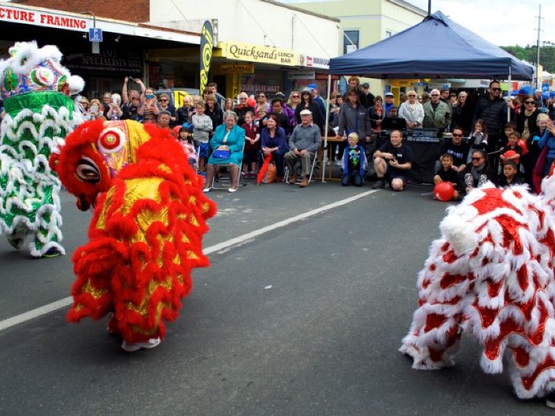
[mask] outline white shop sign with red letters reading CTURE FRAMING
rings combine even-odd
[[[69,31],[86,31],[87,20],[69,15],[57,15],[55,13],[43,12],[31,9],[19,9],[8,6],[0,6],[0,21],[12,23],[33,24],[48,28],[67,29]]]

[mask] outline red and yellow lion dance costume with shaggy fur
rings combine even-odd
[[[80,209],[94,205],[89,242],[73,255],[70,322],[113,312],[128,343],[163,338],[202,252],[216,206],[169,131],[135,121],[88,121],[50,164]]]

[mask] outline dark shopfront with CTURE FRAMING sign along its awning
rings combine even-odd
[[[89,41],[89,29],[100,28],[103,42],[99,53],[93,53]],[[121,91],[123,79],[133,77],[162,82],[159,62],[149,62],[149,51],[191,48],[196,51],[198,67],[198,33],[170,31],[146,24],[136,24],[112,19],[93,18],[71,12],[59,12],[0,2],[0,55],[8,56],[8,49],[15,42],[35,40],[39,46],[54,44],[64,55],[62,63],[85,80],[84,94],[99,97],[106,91]]]

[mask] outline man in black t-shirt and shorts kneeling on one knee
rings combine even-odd
[[[393,130],[389,141],[374,153],[374,169],[377,175],[374,189],[385,188],[387,181],[393,191],[402,191],[407,184],[409,169],[412,166],[412,151],[402,140],[402,133]]]

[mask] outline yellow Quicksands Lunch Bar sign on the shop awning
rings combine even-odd
[[[264,62],[294,67],[298,64],[298,54],[288,49],[271,48],[268,46],[244,44],[240,42],[221,42],[221,52],[214,55],[223,56],[231,60],[244,60],[248,62]]]

